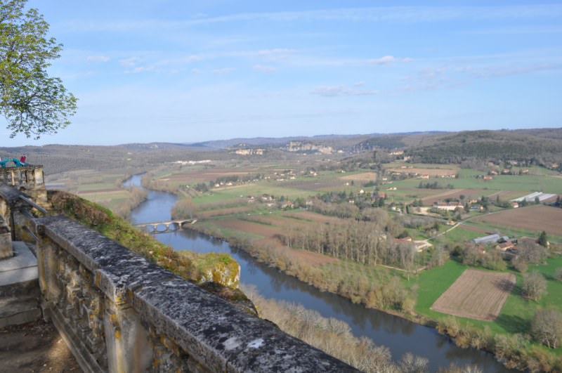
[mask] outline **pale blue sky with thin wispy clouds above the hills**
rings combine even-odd
[[[79,108],[4,146],[562,127],[562,1],[27,5]]]

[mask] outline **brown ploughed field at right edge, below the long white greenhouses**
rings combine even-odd
[[[537,232],[544,230],[551,235],[562,236],[562,209],[544,205],[504,210],[478,216],[473,221]]]

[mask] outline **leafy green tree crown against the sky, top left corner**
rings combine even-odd
[[[0,112],[13,138],[37,139],[70,124],[77,99],[47,73],[62,44],[48,38],[48,23],[27,0],[0,0]]]

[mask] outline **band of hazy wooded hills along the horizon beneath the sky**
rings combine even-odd
[[[365,159],[388,154],[409,162],[456,163],[481,161],[539,164],[562,169],[562,129],[499,131],[370,133],[365,135],[292,136],[284,138],[233,138],[202,143],[130,143],[114,146],[44,145],[0,148],[0,157],[27,153],[34,164],[44,164],[47,174],[72,169],[144,167],[164,162],[200,159],[264,157],[292,159],[299,154],[332,155]],[[403,155],[390,155],[390,153]],[[365,157],[367,156],[367,157]],[[394,158],[393,158],[394,157]]]

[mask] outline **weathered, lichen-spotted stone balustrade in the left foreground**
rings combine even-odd
[[[52,216],[41,166],[0,172],[0,302],[37,289],[30,292],[35,317],[53,322],[84,372],[356,372],[100,233]],[[37,264],[20,281],[13,265],[21,247]],[[5,311],[0,327],[29,321]]]

